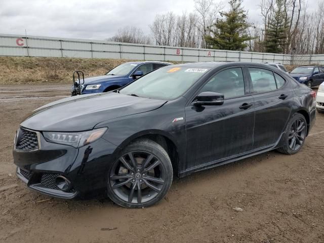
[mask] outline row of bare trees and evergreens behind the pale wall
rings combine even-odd
[[[242,0],[225,8],[215,0],[195,0],[195,11],[157,14],[150,34],[126,26],[109,41],[282,54],[324,54],[324,1],[259,0],[260,21],[252,23]],[[226,9],[226,10],[225,10]],[[315,10],[314,10],[315,9]]]

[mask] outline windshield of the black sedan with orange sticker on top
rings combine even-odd
[[[161,67],[121,89],[119,93],[172,100],[181,96],[209,68]]]

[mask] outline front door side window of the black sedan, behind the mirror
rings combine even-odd
[[[226,69],[213,76],[200,92],[224,94],[225,99],[244,96],[244,79],[241,68]]]

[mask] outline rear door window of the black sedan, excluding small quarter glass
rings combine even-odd
[[[264,93],[277,89],[272,71],[249,67],[253,93]]]

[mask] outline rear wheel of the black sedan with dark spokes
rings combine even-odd
[[[304,145],[307,134],[307,122],[305,117],[296,113],[286,127],[286,133],[282,137],[283,146],[277,150],[281,153],[297,153]]]

